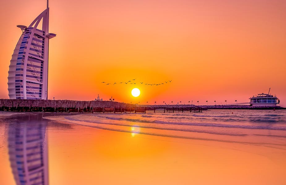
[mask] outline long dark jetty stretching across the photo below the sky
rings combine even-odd
[[[116,101],[0,99],[0,111],[66,113],[203,112],[210,109],[286,109],[250,105],[138,105]]]

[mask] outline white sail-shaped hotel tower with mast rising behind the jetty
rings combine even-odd
[[[49,4],[30,26],[18,25],[22,35],[15,47],[8,72],[10,99],[48,98]]]

